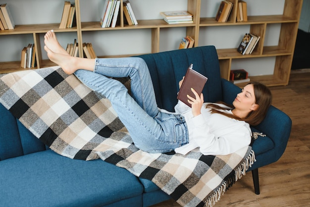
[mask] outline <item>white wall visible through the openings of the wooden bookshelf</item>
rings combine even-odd
[[[43,24],[60,22],[64,0],[0,0],[7,3],[15,24]],[[71,2],[74,2],[71,0]],[[159,19],[160,11],[186,10],[187,0],[130,0],[137,19]],[[214,17],[220,0],[202,0],[201,16]],[[248,15],[282,14],[284,0],[247,0]],[[103,0],[80,0],[81,20],[99,21]],[[237,48],[249,25],[201,27],[199,45],[216,48]],[[268,26],[265,46],[278,44],[280,25]],[[162,28],[160,51],[175,50],[186,28]],[[41,45],[43,46],[43,35]],[[83,32],[83,42],[91,42],[98,55],[116,55],[151,52],[151,29]],[[57,33],[62,47],[73,42],[75,33]],[[32,35],[0,36],[0,61],[20,59],[23,47],[33,43]],[[43,57],[47,58],[43,52]],[[274,57],[234,60],[232,69],[244,68],[250,75],[272,74]]]

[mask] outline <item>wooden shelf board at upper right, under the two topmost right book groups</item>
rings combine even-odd
[[[242,22],[217,22],[215,17],[207,17],[200,19],[200,26],[223,26],[223,25],[243,25],[243,24],[271,24],[271,23],[289,23],[298,22],[296,19],[284,15],[263,15],[263,16],[248,16],[248,21]]]

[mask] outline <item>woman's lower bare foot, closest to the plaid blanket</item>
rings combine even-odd
[[[78,69],[75,66],[76,57],[72,57],[68,55],[68,53],[63,54],[53,52],[47,46],[44,46],[44,50],[48,53],[48,57],[50,58],[50,60],[59,65],[66,74],[71,75]]]

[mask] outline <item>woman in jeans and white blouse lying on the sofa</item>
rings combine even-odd
[[[195,97],[188,96],[192,108],[179,101],[171,113],[157,107],[150,72],[142,58],[73,57],[60,46],[53,31],[45,35],[44,49],[65,73],[74,73],[105,96],[134,144],[149,153],[175,151],[185,155],[196,148],[204,155],[234,153],[250,144],[250,124],[260,123],[271,104],[269,89],[255,82],[242,89],[233,107],[204,103],[203,94],[193,90]],[[131,96],[122,83],[108,78],[128,76]]]

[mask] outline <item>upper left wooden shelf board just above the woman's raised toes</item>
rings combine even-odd
[[[52,24],[26,24],[15,25],[13,30],[0,30],[0,35],[15,35],[15,34],[32,34],[32,33],[46,33],[49,30],[54,32],[76,32],[77,28],[59,29],[59,23]]]

